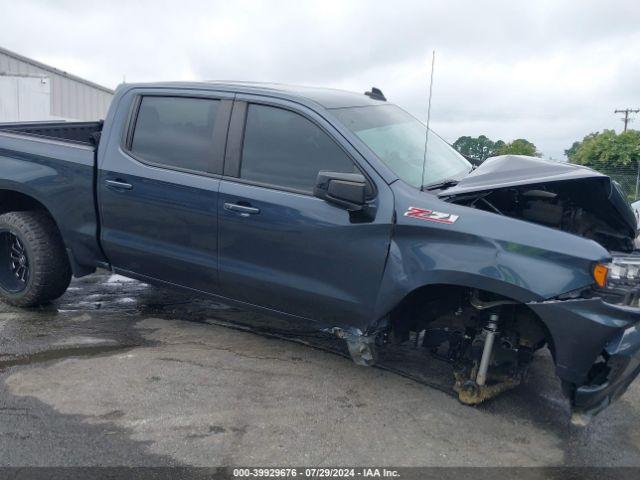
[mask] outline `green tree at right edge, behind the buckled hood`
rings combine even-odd
[[[604,173],[637,171],[640,163],[640,131],[614,130],[590,133],[565,150],[571,163],[586,165]]]

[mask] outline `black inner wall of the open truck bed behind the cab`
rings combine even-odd
[[[0,123],[0,131],[36,136],[83,145],[98,145],[103,121]]]

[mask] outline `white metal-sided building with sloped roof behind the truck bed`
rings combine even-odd
[[[0,122],[99,120],[113,90],[0,47]]]

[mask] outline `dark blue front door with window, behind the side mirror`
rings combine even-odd
[[[378,209],[367,219],[314,197],[318,171],[363,172],[357,152],[311,110],[238,99],[218,196],[223,294],[330,324],[370,320],[391,234],[388,186],[372,183]]]

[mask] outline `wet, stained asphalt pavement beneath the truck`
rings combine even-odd
[[[382,368],[280,320],[106,272],[0,304],[1,466],[640,466],[640,384],[586,428],[548,355],[478,407],[450,368]]]

